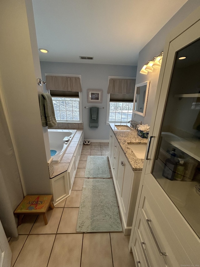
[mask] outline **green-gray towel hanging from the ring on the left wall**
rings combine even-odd
[[[40,114],[43,127],[53,128],[57,126],[53,100],[50,94],[42,93],[40,95]]]

